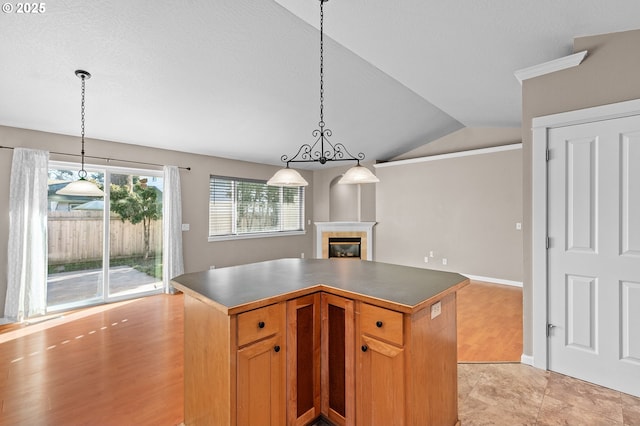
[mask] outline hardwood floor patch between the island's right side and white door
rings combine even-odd
[[[522,288],[472,281],[457,308],[458,362],[520,362]]]

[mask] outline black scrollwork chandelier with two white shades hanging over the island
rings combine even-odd
[[[309,183],[296,170],[289,168],[290,163],[313,163],[325,164],[328,161],[356,161],[357,165],[347,170],[338,183],[375,183],[380,180],[371,171],[360,165],[360,160],[364,160],[364,154],[358,153],[353,156],[347,148],[341,144],[333,144],[329,140],[331,130],[325,128],[324,122],[324,9],[323,5],[328,0],[320,0],[320,122],[319,129],[312,133],[316,138],[313,144],[304,144],[296,155],[288,157],[283,155],[282,162],[286,163],[284,169],[278,170],[276,174],[267,181],[267,185],[273,186],[307,186]]]

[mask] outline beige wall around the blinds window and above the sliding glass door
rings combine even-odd
[[[0,126],[0,145],[76,153],[80,150],[78,137],[70,137],[32,130]],[[275,166],[227,160],[203,155],[187,154],[135,145],[87,140],[87,155],[134,159],[157,164],[189,166],[191,171],[180,172],[182,184],[183,223],[190,230],[183,232],[185,270],[194,272],[241,263],[257,262],[282,257],[312,256],[313,225],[307,225],[303,236],[253,238],[236,241],[208,242],[209,175],[268,179],[277,170]],[[9,238],[9,179],[13,150],[0,149],[0,317],[4,315],[7,288],[7,241]],[[77,157],[51,154],[51,160],[78,161]],[[87,162],[102,164],[90,160]],[[111,162],[114,166],[143,167]],[[157,169],[157,168],[156,168]],[[313,181],[311,172],[302,172],[307,181]],[[307,187],[305,211],[313,224],[313,185]]]

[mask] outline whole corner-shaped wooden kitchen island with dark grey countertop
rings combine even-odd
[[[279,259],[184,274],[185,424],[455,425],[462,275]]]

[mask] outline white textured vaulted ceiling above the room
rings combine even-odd
[[[93,74],[89,138],[268,164],[313,142],[318,0],[45,5],[0,16],[0,125],[78,135],[80,68]],[[574,37],[640,27],[637,0],[324,8],[325,121],[333,142],[368,160],[463,126],[517,127],[515,70],[572,53]]]

